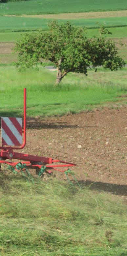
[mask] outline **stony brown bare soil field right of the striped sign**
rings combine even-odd
[[[28,120],[27,127],[22,152],[74,162],[77,166],[72,170],[79,182],[95,182],[92,188],[127,195],[126,107],[36,118]],[[65,178],[59,172],[53,174]]]

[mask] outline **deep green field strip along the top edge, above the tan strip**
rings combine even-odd
[[[50,14],[91,11],[126,10],[126,0],[31,0],[0,4],[0,15],[8,14]]]

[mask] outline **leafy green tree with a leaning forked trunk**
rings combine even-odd
[[[116,71],[125,65],[118,56],[115,42],[105,38],[105,34],[110,32],[103,25],[100,26],[99,36],[90,39],[84,28],[74,27],[70,22],[58,24],[53,20],[48,26],[49,31],[28,33],[16,43],[17,67],[35,68],[40,58],[50,60],[57,67],[55,84],[58,84],[69,72],[87,75],[90,67],[95,71],[97,66]]]

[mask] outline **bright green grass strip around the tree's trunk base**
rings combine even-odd
[[[18,72],[13,66],[0,67],[0,115],[22,114],[23,87],[27,87],[28,116],[51,116],[92,109],[95,105],[118,101],[126,93],[126,68],[118,72],[102,70],[88,72],[88,77],[68,74],[53,87],[56,72]]]

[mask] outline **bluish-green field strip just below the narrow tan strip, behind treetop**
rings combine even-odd
[[[22,3],[22,2],[21,2]],[[47,24],[51,19],[26,18],[16,16],[0,16],[0,30],[6,31],[25,31],[42,28],[47,30]],[[58,22],[67,22],[66,19],[59,19]],[[97,22],[104,24],[106,27],[127,26],[127,17],[108,17],[93,19],[70,19],[74,26],[98,27]]]

